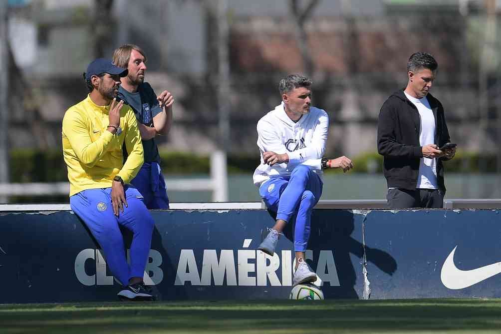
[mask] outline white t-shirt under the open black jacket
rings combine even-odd
[[[428,99],[425,97],[417,99],[404,92],[419,112],[421,128],[419,129],[419,145],[424,146],[435,143],[435,117],[431,110]],[[419,162],[419,175],[417,177],[416,189],[438,189],[436,158],[422,157]]]

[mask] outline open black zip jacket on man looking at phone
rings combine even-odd
[[[426,98],[435,117],[435,144],[441,147],[450,142],[443,107],[431,94]],[[381,107],[377,128],[377,150],[383,155],[383,172],[388,188],[415,190],[419,174],[419,161],[423,157],[419,144],[421,120],[414,104],[403,90],[393,93]],[[438,188],[445,194],[443,180],[444,158],[437,158]]]

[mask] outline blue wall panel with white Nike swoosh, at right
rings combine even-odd
[[[462,289],[449,289],[440,278],[442,265],[456,246],[454,263],[461,270],[501,260],[499,218],[493,210],[371,212],[366,237],[397,262],[392,276],[381,275],[369,263],[369,280],[375,283],[371,297],[501,297],[499,275]]]

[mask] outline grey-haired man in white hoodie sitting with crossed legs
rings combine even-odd
[[[342,168],[347,172],[353,168],[346,156],[323,157],[329,116],[311,106],[311,84],[310,79],[297,74],[282,79],[282,103],[258,122],[261,164],[254,172],[254,184],[260,187],[267,208],[277,214],[275,226],[258,249],[273,256],[279,235],[296,217],[293,285],[317,280],[304,258],[312,209],[322,195],[322,169]]]

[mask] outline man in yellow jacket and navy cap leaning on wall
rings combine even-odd
[[[63,118],[63,155],[68,166],[71,209],[84,221],[124,288],[121,299],[153,299],[143,283],[154,221],[141,194],[128,184],[143,164],[143,146],[132,109],[117,102],[127,70],[99,58],[84,78],[87,98]],[[128,156],[123,161],[122,145]],[[127,264],[119,226],[134,234]]]

